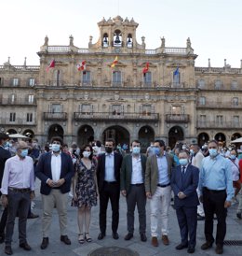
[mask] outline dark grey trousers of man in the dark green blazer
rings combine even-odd
[[[144,234],[146,231],[146,195],[144,185],[131,185],[126,200],[128,233],[134,233],[134,210],[135,206],[137,205],[139,213],[140,234]]]

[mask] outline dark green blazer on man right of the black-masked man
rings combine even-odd
[[[141,168],[142,168],[142,179],[144,181],[145,168],[146,168],[146,156],[141,154]],[[132,155],[128,154],[123,159],[122,167],[121,167],[121,178],[120,178],[120,190],[129,192],[131,178],[132,178]]]

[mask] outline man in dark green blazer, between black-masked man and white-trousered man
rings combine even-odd
[[[132,153],[125,156],[121,168],[121,193],[127,200],[127,226],[130,240],[134,233],[134,210],[138,207],[141,241],[146,242],[146,194],[144,189],[144,173],[146,157],[141,154],[141,143],[134,140],[131,144]]]

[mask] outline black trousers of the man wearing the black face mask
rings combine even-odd
[[[100,192],[100,230],[101,233],[106,232],[106,218],[107,218],[107,207],[110,199],[112,207],[112,231],[117,232],[118,221],[119,221],[119,197],[120,197],[120,186],[117,182],[107,183],[104,182],[103,188]]]

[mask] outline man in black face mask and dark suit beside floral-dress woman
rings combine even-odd
[[[110,199],[112,206],[112,231],[113,238],[118,239],[117,228],[119,221],[119,197],[120,197],[120,169],[122,155],[114,152],[114,141],[107,139],[105,153],[99,156],[97,168],[98,187],[100,192],[100,230],[98,239],[106,235],[107,206]]]

